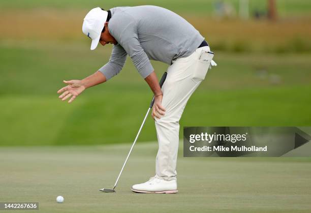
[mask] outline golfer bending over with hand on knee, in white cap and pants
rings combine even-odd
[[[96,73],[82,79],[64,81],[68,85],[57,93],[71,103],[84,89],[117,75],[131,57],[139,74],[154,94],[152,117],[159,141],[155,176],[132,187],[134,192],[176,193],[176,160],[179,119],[195,89],[204,80],[213,54],[200,33],[186,20],[155,6],[116,7],[110,11],[90,10],[83,21],[83,33],[98,43],[113,44],[109,62]],[[162,90],[150,59],[169,66]]]

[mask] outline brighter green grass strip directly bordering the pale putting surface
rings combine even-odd
[[[83,94],[73,104],[57,97],[0,97],[0,145],[74,145],[132,142],[150,93]],[[183,126],[310,126],[310,87],[197,92]],[[151,117],[139,141],[156,140]]]

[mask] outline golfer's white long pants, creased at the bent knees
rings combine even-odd
[[[155,176],[159,178],[176,179],[179,119],[190,96],[204,80],[208,71],[213,57],[213,54],[207,54],[208,51],[210,51],[209,46],[198,48],[190,56],[173,61],[168,68],[162,86],[162,106],[166,112],[160,119],[155,118],[159,142]]]

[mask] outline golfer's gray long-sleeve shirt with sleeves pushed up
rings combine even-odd
[[[171,65],[172,60],[191,55],[204,41],[188,21],[161,7],[116,7],[110,11],[108,29],[118,44],[113,45],[109,62],[99,69],[107,80],[121,71],[127,54],[146,78],[153,71],[149,59]]]

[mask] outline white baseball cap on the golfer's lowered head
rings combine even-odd
[[[97,7],[91,9],[83,19],[82,32],[92,39],[91,50],[94,50],[101,38],[108,12]]]

